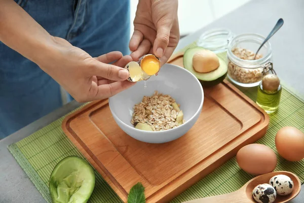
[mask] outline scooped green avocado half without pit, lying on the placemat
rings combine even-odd
[[[50,176],[53,203],[85,203],[95,187],[92,166],[78,156],[68,156],[57,163]]]

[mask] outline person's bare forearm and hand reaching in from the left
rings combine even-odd
[[[0,41],[39,65],[79,102],[108,98],[135,84],[127,81],[129,73],[122,68],[131,56],[110,52],[92,58],[52,37],[12,0],[0,1]]]

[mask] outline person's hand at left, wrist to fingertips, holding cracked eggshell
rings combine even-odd
[[[35,62],[75,100],[108,98],[135,84],[127,81],[129,73],[122,68],[132,61],[130,55],[113,51],[92,58],[62,38],[54,38],[54,42],[50,53]]]

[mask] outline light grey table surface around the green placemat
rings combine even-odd
[[[276,21],[283,18],[283,27],[270,40],[273,47],[274,68],[281,80],[293,87],[299,94],[304,95],[302,83],[304,69],[301,67],[304,64],[304,14],[301,14],[302,11],[304,11],[304,1],[302,0],[252,0],[197,32],[184,37],[180,40],[176,50],[192,43],[202,32],[210,28],[224,27],[231,29],[236,34],[257,32],[267,36]],[[0,202],[45,202],[7,147],[80,105],[76,101],[72,101],[0,141]],[[302,185],[300,194],[289,202],[304,202],[304,185]]]

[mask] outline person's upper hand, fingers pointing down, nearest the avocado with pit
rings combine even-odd
[[[162,65],[168,61],[179,41],[177,8],[177,0],[139,0],[129,44],[133,60],[153,53]]]

